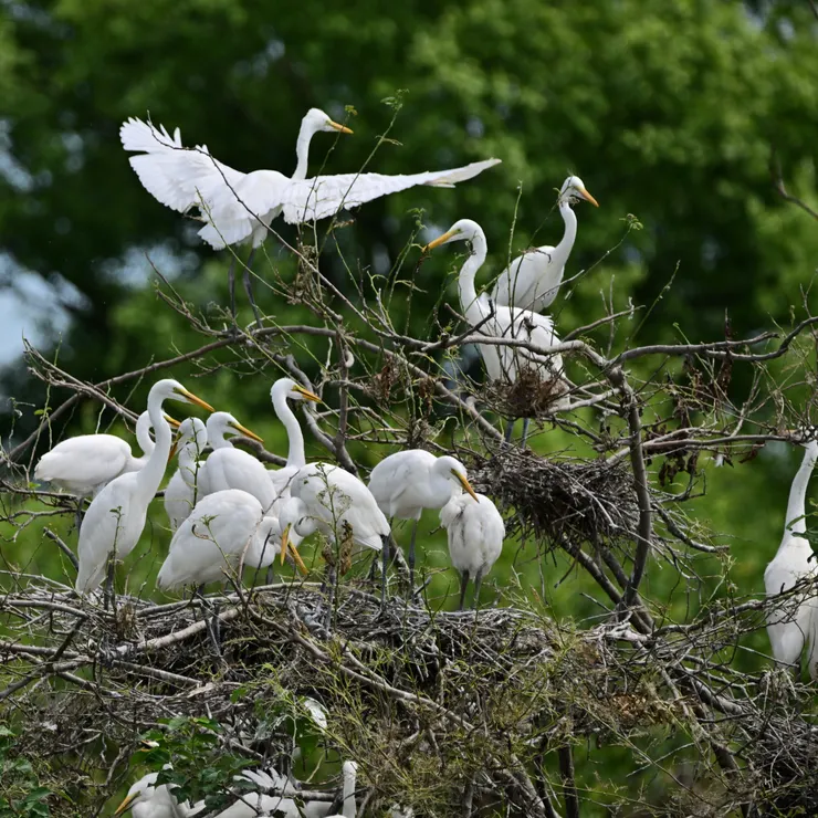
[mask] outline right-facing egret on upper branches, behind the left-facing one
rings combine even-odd
[[[557,202],[565,222],[563,240],[555,248],[546,244],[529,250],[503,270],[492,292],[501,306],[515,306],[539,313],[554,303],[563,282],[565,264],[577,238],[577,217],[571,204],[584,199],[595,207],[597,200],[585,189],[578,176],[569,176],[559,190]]]

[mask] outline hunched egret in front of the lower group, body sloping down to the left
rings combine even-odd
[[[240,489],[228,489],[200,500],[170,541],[157,585],[165,590],[182,585],[224,581],[238,569],[266,568],[279,553],[279,521],[264,516],[261,503]],[[293,558],[304,574],[297,550]]]

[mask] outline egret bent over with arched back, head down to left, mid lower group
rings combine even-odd
[[[301,537],[318,529],[333,541],[348,532],[356,545],[382,550],[381,597],[386,598],[390,528],[369,489],[340,466],[310,463],[292,479],[290,492],[292,496],[279,515],[283,529],[282,562],[287,552],[293,550],[291,529]]]

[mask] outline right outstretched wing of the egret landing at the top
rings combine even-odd
[[[281,204],[284,219],[291,224],[335,216],[342,208],[355,208],[381,196],[408,190],[418,185],[453,188],[459,181],[472,179],[497,165],[500,159],[485,159],[449,170],[430,170],[409,176],[384,174],[339,174],[292,180],[284,189]]]

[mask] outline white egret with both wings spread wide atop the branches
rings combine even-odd
[[[307,117],[311,116],[317,117],[316,129],[343,129],[321,111],[311,111]],[[306,179],[298,172],[302,168],[306,172],[304,134],[305,124],[302,123],[298,169],[293,178],[287,178],[276,170],[251,174],[234,170],[211,157],[204,145],[185,148],[178,128],[171,138],[162,126],[157,129],[130,118],[119,129],[123,147],[140,151],[130,157],[130,165],[146,190],[179,212],[199,207],[207,222],[199,235],[216,249],[245,240],[253,247],[260,245],[266,238],[266,228],[279,216],[291,224],[324,219],[342,208],[354,208],[417,185],[453,187],[500,161],[487,159],[461,168],[410,176],[340,174]],[[306,138],[306,145],[308,141]]]

